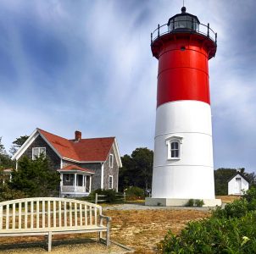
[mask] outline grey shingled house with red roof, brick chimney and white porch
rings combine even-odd
[[[60,196],[87,196],[97,189],[118,191],[120,152],[114,137],[68,140],[45,130],[36,129],[14,154],[18,168],[19,158],[26,155],[35,159],[44,154],[60,173]]]

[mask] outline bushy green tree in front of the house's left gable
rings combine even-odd
[[[52,169],[47,157],[41,155],[36,160],[22,157],[9,185],[26,196],[53,196],[58,191],[59,181],[58,172]]]

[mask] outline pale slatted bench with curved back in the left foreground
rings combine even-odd
[[[106,225],[103,225],[103,219]],[[109,246],[111,218],[103,216],[102,207],[74,199],[35,197],[0,202],[0,236],[47,235],[48,251],[52,235],[106,232]]]

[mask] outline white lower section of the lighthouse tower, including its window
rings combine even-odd
[[[211,126],[208,103],[176,101],[157,108],[153,198],[214,199]]]

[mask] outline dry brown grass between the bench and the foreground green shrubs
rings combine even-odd
[[[131,246],[136,253],[155,253],[168,230],[177,234],[191,220],[207,218],[209,210],[108,210],[112,217],[111,238]]]

